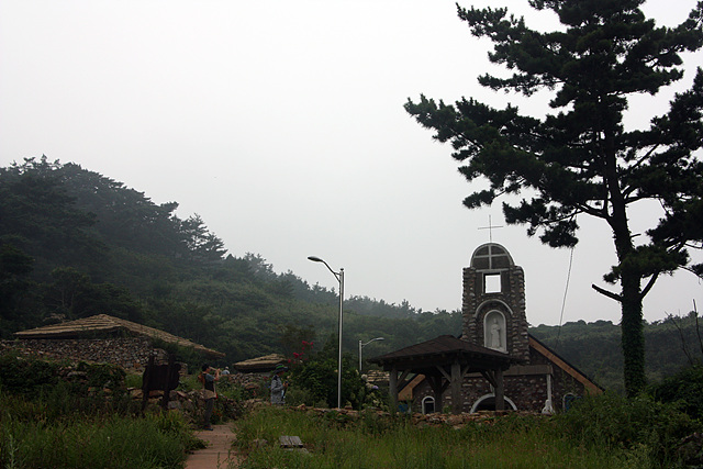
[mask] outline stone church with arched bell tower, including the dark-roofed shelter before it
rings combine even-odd
[[[423,413],[556,412],[602,392],[529,335],[525,273],[503,246],[488,243],[473,252],[464,269],[462,316],[458,338],[440,336],[370,360],[391,372],[392,398]],[[503,405],[496,405],[500,395]]]

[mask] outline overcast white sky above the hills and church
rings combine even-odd
[[[526,0],[472,4],[558,26]],[[645,10],[673,25],[694,4],[651,0]],[[260,254],[277,272],[336,290],[306,259],[319,256],[345,269],[346,297],[450,311],[462,268],[489,241],[478,228],[489,215],[504,225],[502,213],[461,205],[476,188],[403,103],[466,96],[543,115],[544,96],[477,85],[492,69],[489,47],[454,0],[0,0],[0,166],[42,154],[74,161],[156,203],[179,202],[181,217],[200,214],[235,256]],[[633,103],[631,125],[662,113],[672,92]],[[492,232],[525,269],[533,325],[620,321],[620,305],[591,289],[605,287],[615,261],[611,234],[580,224],[563,314],[570,252],[521,226]],[[701,293],[689,272],[663,278],[645,317],[687,313]]]

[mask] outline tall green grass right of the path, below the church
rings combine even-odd
[[[300,436],[306,453],[279,448]],[[408,418],[365,414],[356,422],[266,407],[237,426],[248,468],[623,468],[626,449],[574,444],[550,420],[510,416],[469,424],[416,427]],[[266,440],[266,444],[263,444]]]

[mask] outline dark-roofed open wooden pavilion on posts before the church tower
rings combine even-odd
[[[393,407],[408,378],[423,375],[442,409],[442,394],[450,388],[451,413],[461,413],[461,383],[468,373],[478,372],[495,390],[495,410],[504,410],[503,372],[516,360],[510,355],[461,340],[453,335],[411,345],[369,360],[390,373],[389,393]]]

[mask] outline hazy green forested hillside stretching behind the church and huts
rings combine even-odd
[[[25,158],[0,168],[0,333],[111,314],[217,349],[221,365],[336,343],[334,290],[264,254],[227,254],[198,214],[156,204],[80,165]],[[246,248],[246,247],[245,247]],[[246,252],[244,249],[244,252]],[[383,337],[365,357],[442,334],[459,335],[459,311],[345,299],[343,351]],[[698,315],[645,324],[647,372],[659,380],[700,361]],[[611,322],[532,327],[531,333],[606,389],[622,391],[620,326]]]

